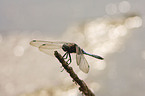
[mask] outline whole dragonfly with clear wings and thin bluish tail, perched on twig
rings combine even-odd
[[[69,42],[51,42],[51,41],[41,41],[41,40],[32,40],[30,42],[30,45],[39,48],[40,51],[50,55],[52,53],[52,50],[58,50],[61,49],[65,52],[63,55],[63,58],[67,60],[66,62],[70,64],[72,62],[71,53],[76,53],[76,62],[79,66],[79,69],[83,71],[84,73],[89,72],[89,64],[87,60],[84,57],[85,55],[103,60],[104,58],[98,55],[90,54],[85,52],[83,49],[81,49],[77,44],[75,43],[69,43]],[[52,54],[51,54],[52,55]]]

